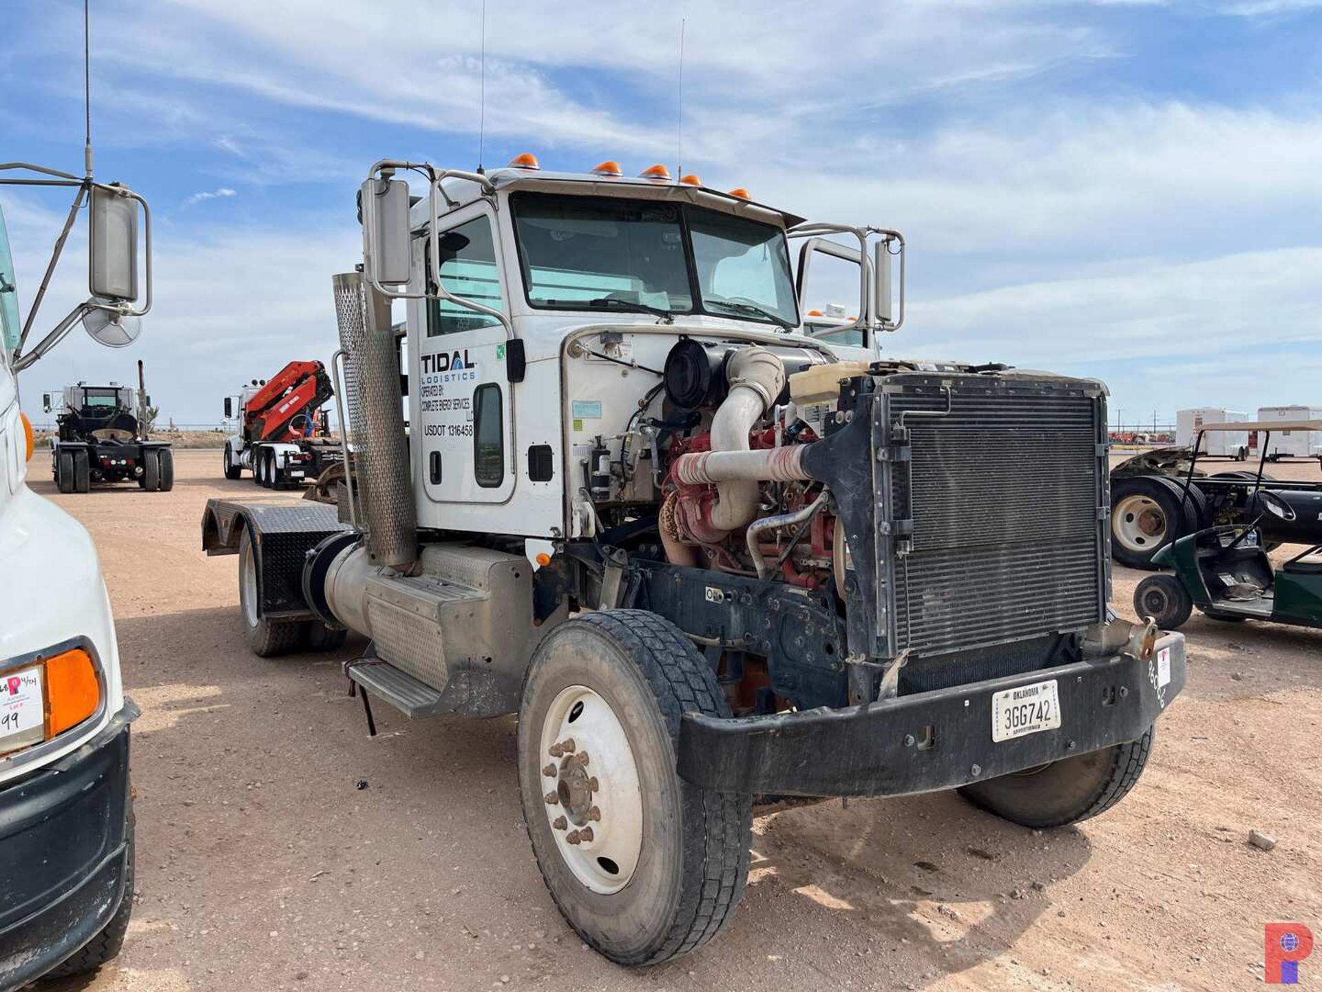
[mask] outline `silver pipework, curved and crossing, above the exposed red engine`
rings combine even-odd
[[[715,483],[717,501],[710,525],[738,530],[758,516],[758,483],[772,480],[771,455],[789,448],[748,450],[748,431],[785,388],[780,356],[760,345],[743,348],[730,358],[730,390],[711,421],[711,451],[682,455],[676,471],[685,483]],[[797,459],[791,459],[797,460]],[[783,481],[806,476],[788,475]]]

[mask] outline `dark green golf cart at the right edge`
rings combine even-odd
[[[1245,426],[1269,434],[1273,427],[1318,430],[1322,421],[1233,425],[1239,430]],[[1222,427],[1207,425],[1204,430]],[[1224,427],[1231,429],[1231,425]],[[1263,538],[1264,524],[1276,534],[1302,532],[1318,520],[1322,508],[1317,497],[1309,499],[1309,493],[1263,487],[1266,450],[1264,439],[1264,456],[1259,460],[1257,476],[1245,504],[1251,522],[1210,526],[1157,552],[1153,563],[1174,571],[1149,575],[1138,583],[1134,611],[1140,616],[1150,616],[1162,630],[1175,630],[1196,606],[1214,620],[1252,619],[1322,627],[1322,544],[1309,544],[1301,554],[1273,571]],[[1198,446],[1194,451],[1196,462]],[[1191,464],[1186,487],[1192,476]]]

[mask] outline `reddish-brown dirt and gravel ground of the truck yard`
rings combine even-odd
[[[1277,475],[1318,477],[1313,463]],[[620,970],[561,921],[524,835],[514,721],[379,737],[334,656],[254,657],[233,557],[206,558],[209,496],[264,496],[180,451],[172,493],[56,495],[97,540],[134,727],[135,989],[1239,989],[1263,923],[1322,936],[1322,631],[1187,627],[1188,688],[1110,812],[1034,832],[953,794],[760,817],[730,930]],[[1140,573],[1116,569],[1129,616]],[[1280,839],[1247,844],[1251,828]],[[1322,983],[1322,958],[1301,967]],[[75,985],[78,987],[78,985]]]

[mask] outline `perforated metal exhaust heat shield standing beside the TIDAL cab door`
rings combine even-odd
[[[418,557],[418,512],[390,303],[366,291],[360,272],[340,272],[332,282],[368,553],[373,565],[405,569]]]

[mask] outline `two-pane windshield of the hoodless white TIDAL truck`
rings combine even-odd
[[[510,204],[533,307],[798,323],[776,226],[653,200],[525,192]]]

